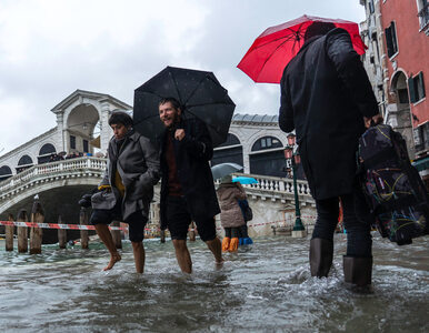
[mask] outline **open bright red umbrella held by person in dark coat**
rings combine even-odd
[[[279,83],[285,67],[302,47],[307,28],[316,21],[330,22],[337,28],[347,30],[356,52],[358,54],[365,53],[367,47],[360,38],[357,23],[339,19],[302,16],[263,31],[237,67],[255,82]]]

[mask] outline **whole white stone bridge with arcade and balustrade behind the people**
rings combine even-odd
[[[97,185],[106,165],[103,158],[96,157],[103,155],[112,135],[108,119],[114,111],[132,114],[132,107],[108,94],[77,90],[50,111],[57,127],[0,157],[2,220],[8,213],[16,216],[22,208],[29,212],[32,198],[39,194],[47,222],[56,223],[61,215],[63,223],[77,223],[77,202]],[[259,180],[247,186],[253,234],[271,234],[271,225],[295,220],[292,181],[283,170],[286,144],[277,115],[235,114],[227,142],[214,150],[212,165],[235,162]],[[50,162],[53,154],[84,157]],[[307,182],[299,180],[298,188],[303,222],[312,224],[315,204]],[[157,201],[158,194],[153,206]]]

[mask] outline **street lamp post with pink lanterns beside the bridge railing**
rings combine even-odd
[[[293,178],[293,195],[295,195],[295,225],[292,230],[292,236],[293,238],[303,238],[306,236],[306,228],[302,224],[301,221],[301,211],[299,209],[299,198],[298,198],[298,186],[297,186],[297,169],[298,164],[301,162],[301,157],[299,155],[299,152],[297,151],[297,144],[296,144],[296,137],[295,134],[290,133],[288,135],[288,145],[285,148],[285,158],[287,161],[287,170],[292,174]]]

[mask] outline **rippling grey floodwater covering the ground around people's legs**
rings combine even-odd
[[[46,245],[40,255],[4,252],[0,242],[2,332],[429,332],[427,238],[397,246],[375,233],[373,283],[342,282],[345,235],[335,268],[311,278],[309,240],[272,236],[227,254],[217,270],[200,241],[189,243],[193,273],[180,273],[171,242],[144,241],[146,272],[130,243],[102,272],[108,253]]]

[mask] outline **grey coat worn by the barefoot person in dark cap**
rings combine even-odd
[[[108,148],[108,165],[100,185],[110,185],[116,199],[120,200],[119,191],[114,188],[114,174],[118,170],[126,188],[122,198],[122,218],[126,220],[136,211],[142,210],[149,215],[149,204],[153,198],[153,185],[160,179],[159,153],[149,139],[137,132],[127,135],[120,151],[112,138]],[[106,209],[102,201],[94,209]]]

